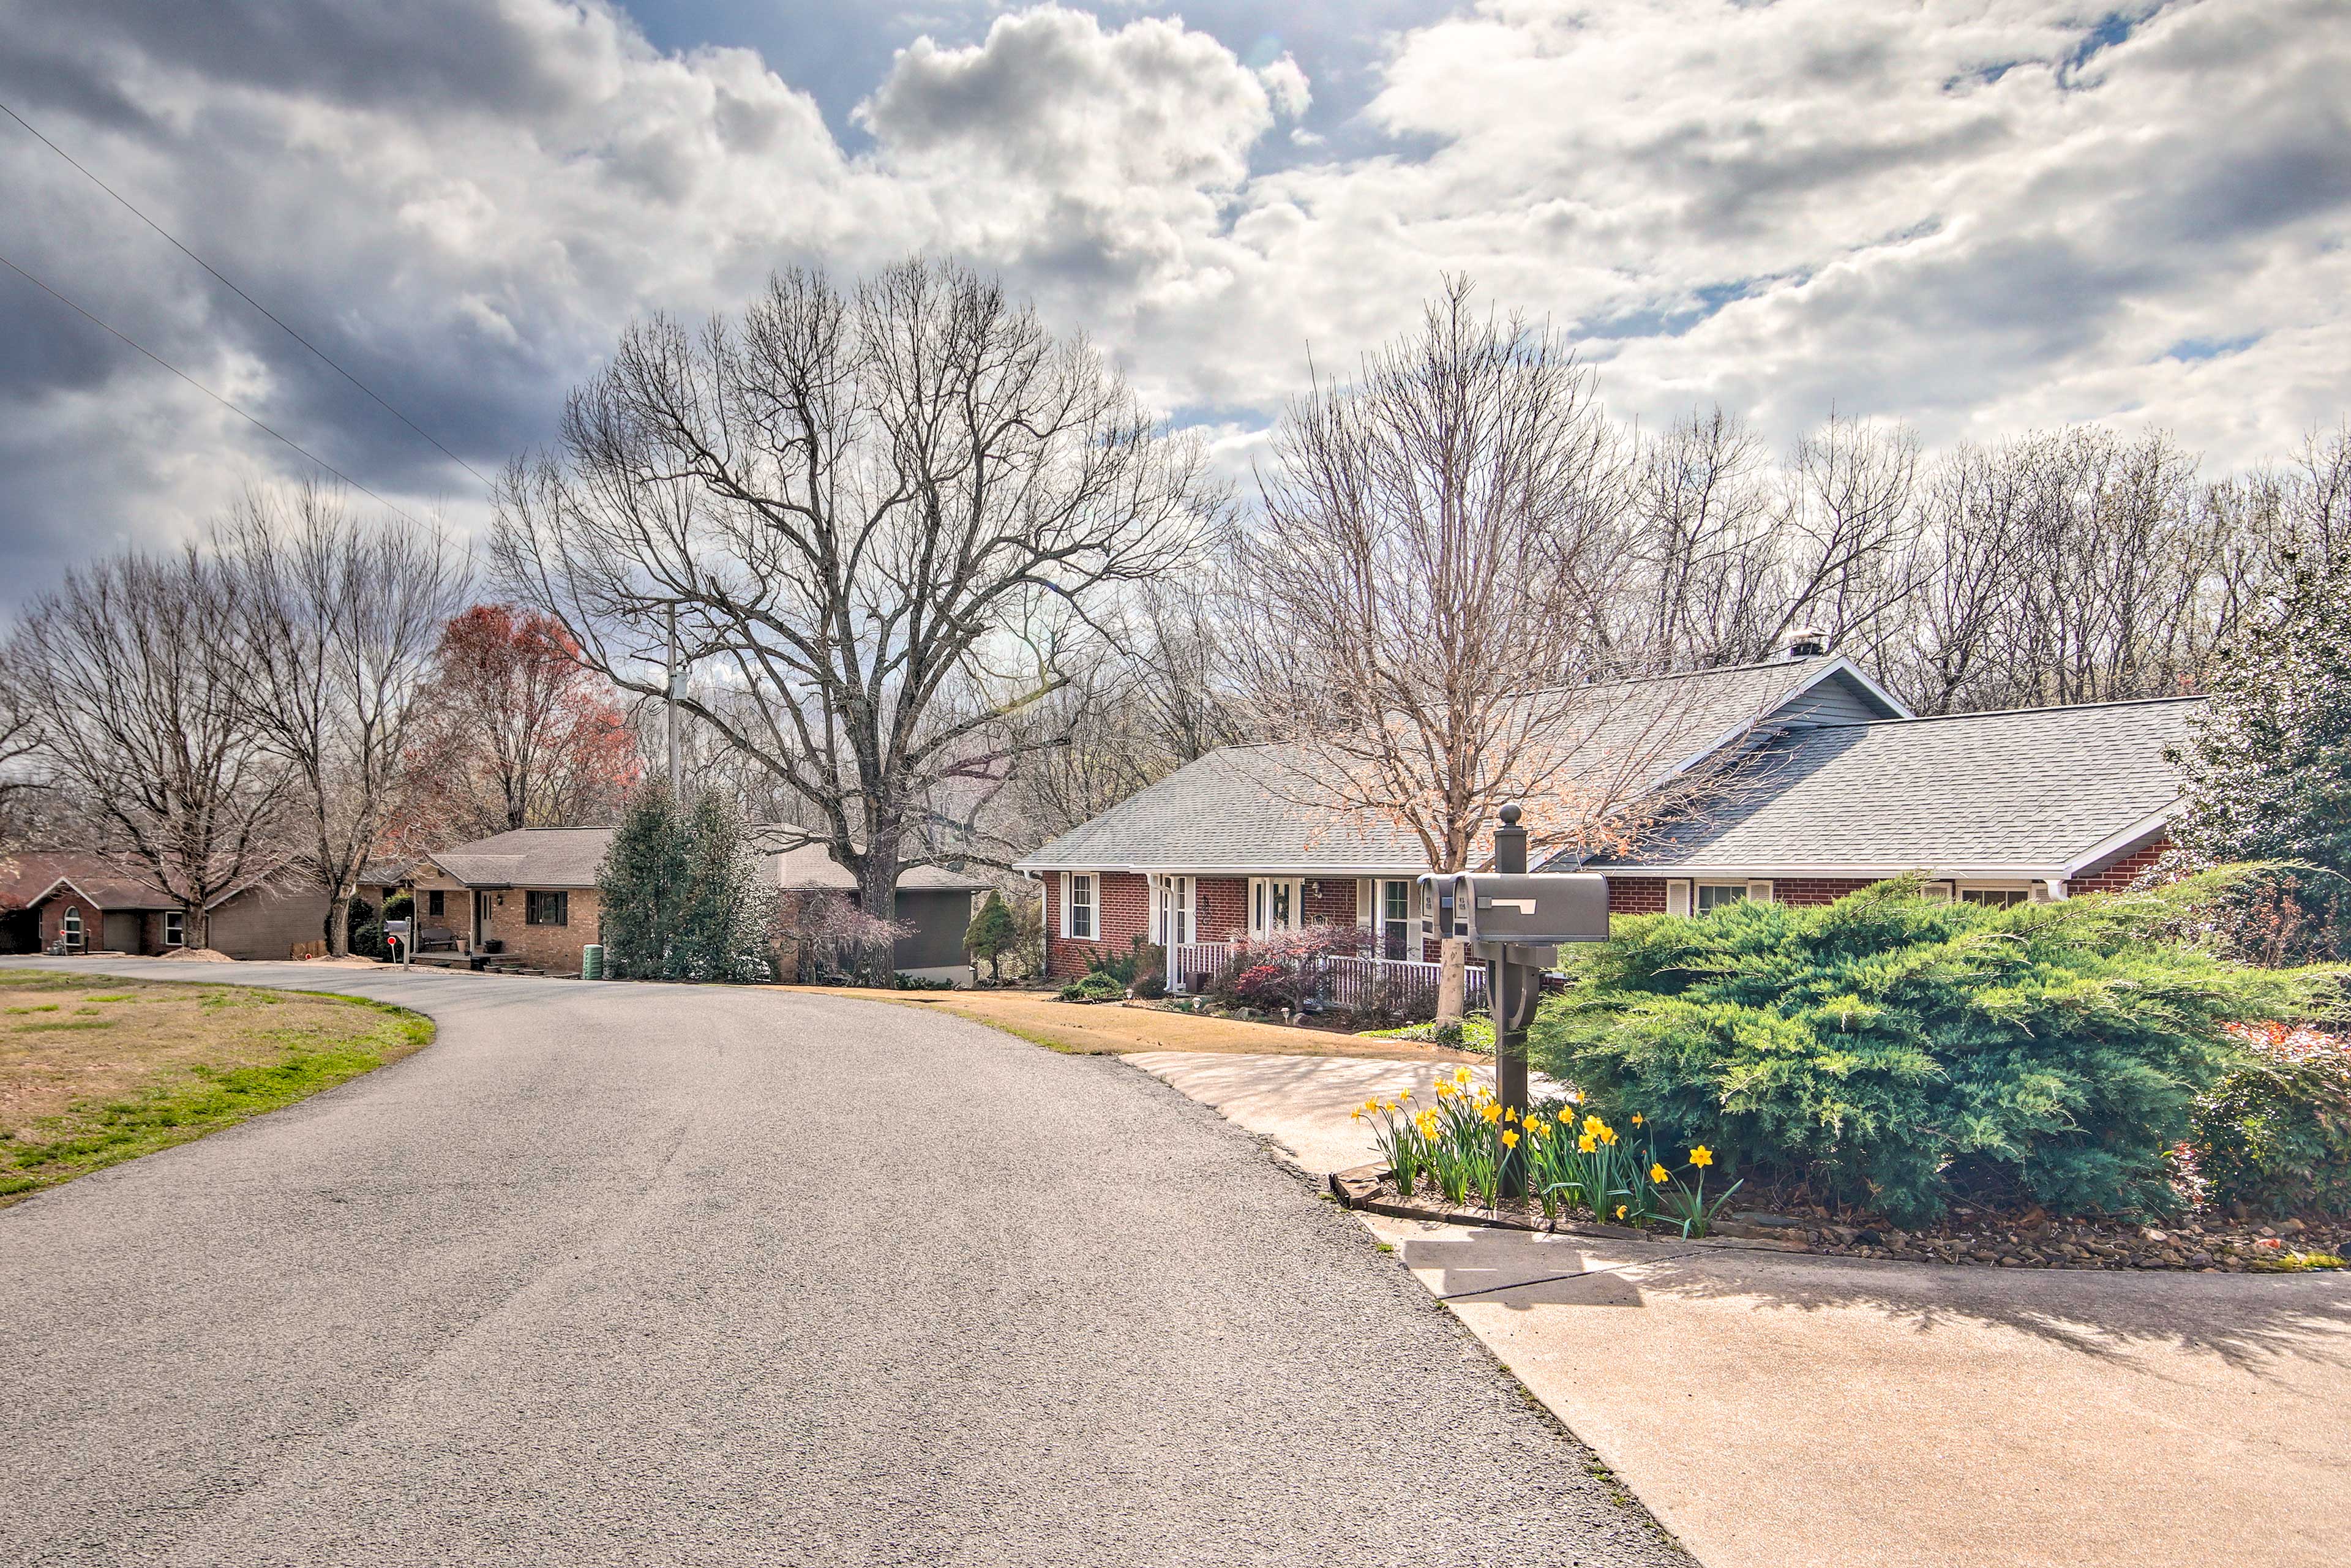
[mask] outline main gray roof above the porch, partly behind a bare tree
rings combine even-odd
[[[1766,717],[1817,722],[1900,712],[1843,658],[1608,682],[1594,691],[1599,719],[1582,748],[1596,759],[1641,757],[1657,780]],[[1813,715],[1813,705],[1827,712]],[[1427,853],[1392,820],[1349,820],[1314,804],[1305,752],[1234,745],[1079,823],[1018,867],[1413,875],[1427,870]]]

